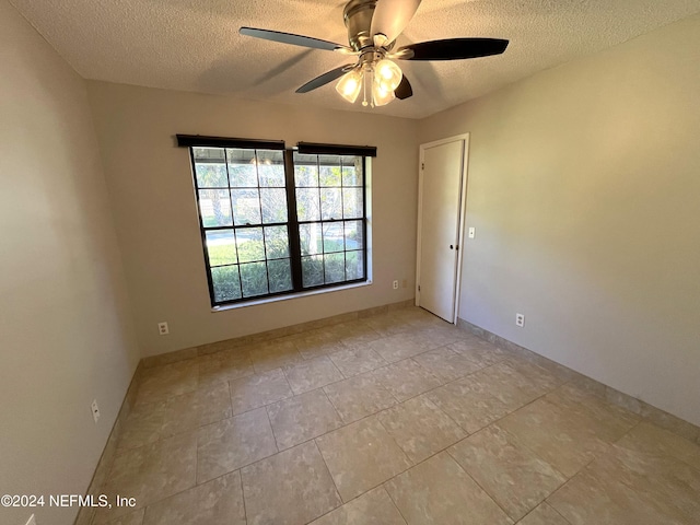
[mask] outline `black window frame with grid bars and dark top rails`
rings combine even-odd
[[[370,276],[369,276],[370,246],[369,246],[369,238],[368,238],[368,158],[376,156],[376,148],[300,142],[296,148],[287,149],[283,141],[269,141],[269,140],[256,140],[256,139],[231,139],[231,138],[223,138],[223,137],[201,137],[201,136],[184,136],[184,135],[178,135],[176,137],[177,137],[177,144],[179,147],[187,147],[189,149],[192,182],[194,182],[194,188],[195,188],[195,196],[197,200],[197,215],[199,220],[199,230],[200,230],[200,237],[202,243],[203,261],[206,267],[209,296],[210,296],[212,308],[221,308],[221,307],[232,306],[232,305],[245,305],[246,303],[255,303],[255,302],[260,302],[269,299],[282,299],[288,295],[304,294],[306,292],[324,291],[324,290],[332,291],[332,290],[341,289],[351,284],[368,282],[370,280]],[[261,220],[260,224],[236,225],[234,221],[234,223],[232,223],[232,225],[230,226],[229,225],[205,226],[202,208],[200,205],[199,197],[200,197],[200,189],[210,189],[210,188],[199,188],[199,185],[198,185],[197,168],[196,168],[197,161],[195,158],[195,149],[197,148],[224,149],[224,164],[226,165],[228,176],[229,176],[229,162],[225,153],[225,149],[228,148],[253,150],[253,151],[281,150],[283,152],[283,168],[284,168],[284,183],[285,183],[284,189],[287,194],[287,222],[280,223],[280,224],[265,224]],[[322,214],[318,220],[300,221],[298,217],[298,207],[296,207],[298,187],[295,183],[295,173],[294,173],[294,159],[293,159],[294,153],[316,155],[317,162],[318,162],[318,158],[324,155],[361,158],[362,159],[362,185],[361,185],[362,217],[357,219],[354,218],[345,219],[345,217],[342,217],[341,219],[323,219],[323,214]],[[317,171],[318,173],[320,173],[320,167],[318,167]],[[342,173],[342,170],[341,170],[341,173]],[[229,179],[229,184],[231,184],[230,179]],[[258,184],[260,183],[258,182]],[[320,187],[322,187],[320,182],[318,184],[319,184],[318,190],[320,191]],[[346,186],[343,186],[343,180],[341,175],[341,182],[340,182],[341,191],[342,191],[342,188],[345,187]],[[360,187],[360,186],[352,186],[352,187]],[[229,189],[231,189],[231,187]],[[231,203],[231,207],[232,207],[231,213],[233,218],[233,203]],[[320,209],[319,209],[319,213],[320,213]],[[361,245],[361,249],[357,250],[357,252],[360,252],[360,250],[362,252],[362,277],[358,279],[346,279],[342,281],[324,282],[322,284],[304,287],[302,258],[307,257],[308,255],[302,254],[302,248],[301,248],[302,243],[300,238],[301,235],[300,235],[300,228],[299,228],[300,224],[319,223],[319,228],[322,229],[322,232],[324,231],[324,226],[326,224],[331,224],[331,223],[343,224],[343,249],[339,252],[332,252],[332,253],[343,254],[343,261],[345,261],[343,264],[347,265],[347,255],[345,254],[347,254],[348,252],[353,252],[353,250],[348,250],[347,244],[346,244],[347,237],[345,233],[345,223],[349,221],[359,221],[362,224],[362,245]],[[292,281],[291,289],[284,290],[284,291],[270,292],[269,282],[268,282],[268,293],[244,296],[243,287],[241,287],[240,299],[217,301],[215,292],[214,292],[214,281],[212,277],[212,266],[209,259],[209,252],[207,248],[207,232],[211,232],[215,230],[233,230],[235,235],[236,234],[235,232],[237,230],[242,230],[246,228],[265,229],[266,226],[281,225],[281,224],[285,224],[288,230],[289,260],[290,260],[291,281]],[[324,255],[326,255],[326,253],[325,253],[324,242],[322,242],[320,244],[322,244],[322,252],[318,255],[322,257],[322,260],[323,260]],[[268,259],[268,255],[266,253],[265,254],[266,267],[267,267],[268,260],[273,260],[273,259]],[[241,262],[237,258],[236,258],[236,265],[238,266],[237,271],[240,276]],[[348,271],[347,266],[345,271],[347,277],[347,271]],[[268,273],[268,280],[269,280],[269,273]],[[325,280],[326,280],[326,273],[325,273],[325,264],[324,264],[324,281]]]

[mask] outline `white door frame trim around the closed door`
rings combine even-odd
[[[435,140],[420,144],[419,159],[418,159],[418,232],[417,232],[417,250],[416,250],[416,306],[420,306],[420,256],[421,256],[421,225],[423,221],[423,163],[425,160],[425,150],[438,145],[446,144],[450,142],[462,141],[462,179],[459,180],[459,219],[457,231],[457,268],[455,271],[455,305],[454,317],[452,324],[457,324],[457,317],[459,315],[459,294],[462,290],[462,261],[464,257],[464,234],[465,234],[465,218],[467,212],[467,173],[469,167],[469,133],[456,135],[454,137],[447,137],[445,139]]]

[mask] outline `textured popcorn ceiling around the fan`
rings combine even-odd
[[[347,44],[337,0],[10,0],[85,79],[346,110],[334,83],[294,90],[349,57],[238,35],[247,25]],[[380,0],[382,1],[382,0]],[[421,118],[700,12],[700,0],[423,0],[398,45],[508,38],[504,55],[400,61],[413,96],[376,113]]]

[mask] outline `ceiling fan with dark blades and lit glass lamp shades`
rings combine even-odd
[[[340,78],[336,90],[350,103],[363,92],[363,106],[383,106],[394,98],[413,94],[411,84],[393,60],[462,60],[505,51],[509,40],[500,38],[447,38],[420,42],[394,49],[421,0],[350,0],[342,12],[349,45],[279,31],[241,27],[240,33],[266,40],[336,51],[358,57],[306,82],[296,93],[307,93]]]

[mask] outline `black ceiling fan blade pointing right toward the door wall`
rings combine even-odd
[[[445,40],[419,42],[398,49],[396,58],[402,60],[460,60],[489,57],[502,54],[508,44],[509,40],[501,38],[447,38]]]

